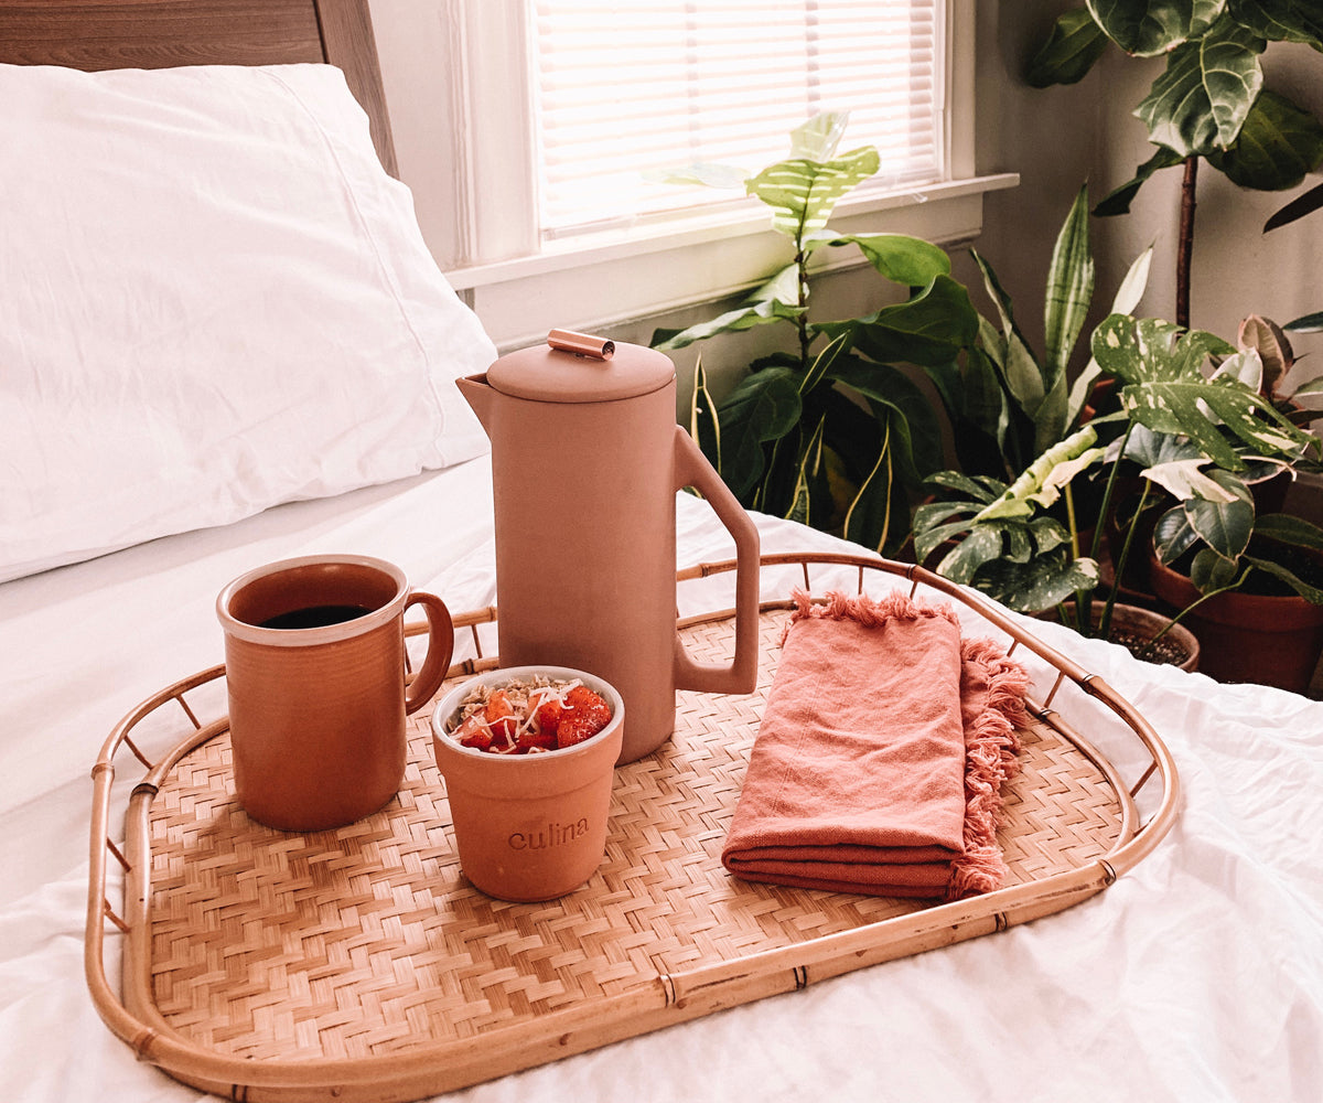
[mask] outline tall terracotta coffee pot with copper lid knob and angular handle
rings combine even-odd
[[[501,665],[587,670],[624,699],[619,761],[660,747],[675,691],[750,693],[758,530],[676,425],[675,365],[635,344],[553,330],[456,380],[492,441]],[[675,495],[692,486],[736,542],[729,666],[679,642]]]

